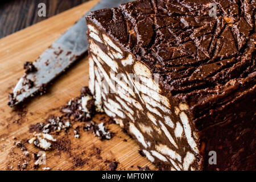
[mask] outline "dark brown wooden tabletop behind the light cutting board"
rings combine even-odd
[[[89,0],[1,0],[0,39]],[[38,16],[38,4],[46,3],[46,17]]]

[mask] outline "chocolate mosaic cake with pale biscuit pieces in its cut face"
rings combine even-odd
[[[162,170],[255,169],[255,1],[143,0],[86,16],[90,91]]]

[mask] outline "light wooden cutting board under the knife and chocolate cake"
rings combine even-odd
[[[0,169],[18,169],[18,164],[28,162],[26,170],[33,170],[33,154],[40,150],[27,143],[32,137],[28,132],[30,125],[45,122],[50,114],[59,114],[57,108],[80,95],[82,86],[88,85],[88,57],[61,75],[49,92],[41,97],[34,97],[23,104],[23,109],[14,110],[7,106],[8,94],[22,77],[23,63],[34,61],[48,48],[67,28],[72,26],[98,0],[89,1],[43,22],[28,27],[0,40]],[[96,115],[98,121],[101,115]],[[53,138],[64,141],[63,150],[46,152],[46,164],[51,170],[108,170],[108,161],[119,162],[117,170],[138,170],[137,166],[148,166],[156,169],[138,152],[139,147],[133,139],[123,133],[115,124],[108,126],[115,133],[111,140],[101,141],[92,133],[81,132],[76,139],[72,129],[68,133],[53,135]],[[126,140],[127,142],[126,142]],[[25,141],[28,156],[14,142]],[[97,154],[97,148],[101,150]]]

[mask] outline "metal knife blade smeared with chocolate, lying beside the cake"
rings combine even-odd
[[[132,0],[134,1],[134,0]],[[118,5],[131,0],[101,0],[90,11],[100,10]],[[87,13],[89,14],[89,13]],[[85,14],[85,15],[87,15]],[[84,16],[71,28],[60,36],[49,48],[46,49],[34,61],[34,72],[25,73],[16,84],[13,93],[9,94],[8,105],[14,107],[38,92],[43,92],[44,86],[48,85],[60,73],[63,73],[88,49],[85,32],[87,31]]]

